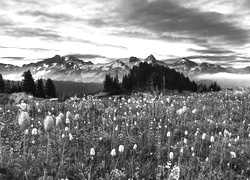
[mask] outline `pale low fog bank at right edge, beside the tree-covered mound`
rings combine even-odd
[[[222,88],[250,86],[250,74],[233,74],[233,73],[203,74],[195,77],[194,80],[216,81]]]

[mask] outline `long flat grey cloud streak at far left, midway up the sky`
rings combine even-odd
[[[12,28],[5,31],[6,34],[14,37],[38,37],[49,40],[62,40],[62,36],[58,35],[53,30],[47,30],[42,28]]]

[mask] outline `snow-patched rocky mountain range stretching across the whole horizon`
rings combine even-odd
[[[22,79],[22,73],[29,69],[35,79],[43,77],[57,81],[102,83],[106,74],[114,76],[118,73],[119,78],[122,79],[123,75],[127,74],[133,66],[138,66],[140,62],[166,66],[183,73],[185,76],[189,76],[191,79],[196,79],[196,77],[205,74],[250,74],[249,66],[245,68],[226,68],[206,62],[198,64],[188,58],[180,58],[174,63],[168,63],[167,60],[156,60],[153,55],[148,56],[146,59],[130,57],[102,64],[94,64],[91,61],[84,61],[75,56],[56,55],[52,58],[44,59],[36,63],[24,64],[21,67],[1,63],[0,73],[6,79],[18,80]]]

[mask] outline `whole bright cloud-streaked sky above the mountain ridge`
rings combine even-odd
[[[250,65],[249,0],[8,0],[0,9],[0,63],[153,54]]]

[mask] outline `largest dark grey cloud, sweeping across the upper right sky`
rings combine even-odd
[[[249,31],[228,21],[223,14],[185,8],[170,0],[122,1],[116,11],[127,26],[144,28],[160,37],[164,34],[181,35],[187,40],[195,37],[191,41],[202,45],[206,42],[244,45],[249,41]],[[200,38],[202,42],[197,41]]]

